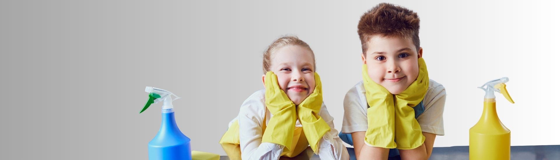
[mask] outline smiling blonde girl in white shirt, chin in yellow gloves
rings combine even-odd
[[[323,103],[315,55],[295,36],[274,41],[263,56],[265,90],[241,105],[220,144],[231,159],[295,157],[311,145],[321,159],[348,159]]]

